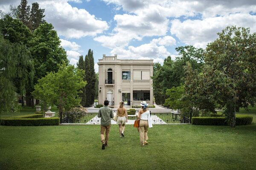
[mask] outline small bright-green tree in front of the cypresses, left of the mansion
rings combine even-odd
[[[46,104],[58,106],[59,113],[79,106],[79,89],[87,83],[83,80],[84,71],[73,65],[58,66],[58,72],[50,72],[38,79],[33,96]]]

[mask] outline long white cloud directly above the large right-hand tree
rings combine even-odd
[[[215,40],[222,29],[230,25],[250,27],[256,31],[256,16],[250,14],[230,14],[224,17],[211,17],[204,20],[173,20],[171,33],[188,45],[204,48],[208,42]]]

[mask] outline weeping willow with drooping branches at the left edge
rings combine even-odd
[[[9,16],[6,17],[8,17],[9,21],[11,20]],[[10,111],[11,108],[16,108],[17,106],[15,105],[15,103],[17,104],[16,93],[22,96],[25,94],[26,85],[28,85],[34,76],[34,66],[31,54],[26,45],[23,45],[22,41],[18,43],[14,40],[12,42],[13,39],[10,38],[15,37],[12,33],[19,34],[17,32],[19,28],[12,30],[15,27],[14,23],[17,23],[16,26],[21,25],[20,31],[24,30],[22,29],[23,23],[19,20],[11,20],[11,22],[13,21],[12,24],[8,25],[8,22],[4,19],[0,20],[0,26],[5,30],[3,32],[0,28],[0,79],[2,84],[0,88],[0,110]],[[8,28],[8,26],[11,28]],[[9,36],[4,37],[3,34],[7,34],[7,32]]]

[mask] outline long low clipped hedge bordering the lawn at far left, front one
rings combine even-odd
[[[0,120],[0,125],[5,126],[53,126],[59,125],[58,117],[50,118],[3,118]]]

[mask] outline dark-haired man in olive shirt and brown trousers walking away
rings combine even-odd
[[[113,111],[108,107],[108,100],[104,101],[104,106],[99,108],[98,117],[101,117],[100,121],[100,137],[102,141],[102,149],[105,149],[105,146],[108,146],[108,134],[111,127],[111,118],[114,117]],[[104,138],[104,133],[106,138]]]

